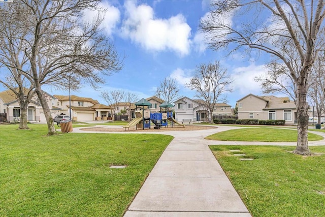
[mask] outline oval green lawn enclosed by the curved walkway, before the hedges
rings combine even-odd
[[[220,141],[259,141],[259,142],[296,142],[297,130],[274,128],[243,128],[216,133],[206,139]],[[322,140],[323,137],[308,133],[308,141]]]

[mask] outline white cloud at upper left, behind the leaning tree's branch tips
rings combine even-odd
[[[104,20],[101,23],[101,27],[105,28],[105,31],[108,35],[112,35],[116,24],[120,21],[120,11],[114,6],[109,5],[107,2],[101,2],[98,7],[106,9],[106,12],[104,14],[101,14],[100,12],[99,14],[98,11],[85,10],[84,19],[91,21],[98,15],[104,16]]]

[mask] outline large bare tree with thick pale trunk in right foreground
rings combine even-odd
[[[311,1],[214,1],[201,29],[210,47],[230,52],[246,49],[280,59],[296,86],[298,142],[294,153],[311,154],[308,148],[308,75],[317,53],[324,49],[325,2]],[[247,14],[254,14],[246,19]],[[295,53],[297,63],[289,53]],[[297,69],[299,69],[297,71]]]

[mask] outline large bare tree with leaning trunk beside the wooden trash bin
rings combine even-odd
[[[100,2],[21,0],[0,8],[1,19],[5,20],[1,22],[0,38],[10,45],[0,47],[0,55],[5,57],[0,64],[18,71],[17,76],[21,74],[35,88],[47,120],[48,135],[55,134],[55,129],[43,84],[67,88],[66,81],[78,83],[85,79],[96,87],[104,80],[101,73],[110,75],[122,67],[115,47],[100,28],[105,11],[99,7]],[[86,9],[99,14],[91,21],[84,20]],[[8,36],[8,31],[17,29],[21,34]],[[17,65],[17,60],[24,66]]]

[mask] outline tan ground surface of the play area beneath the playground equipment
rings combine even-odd
[[[211,126],[196,126],[196,125],[186,125],[185,127],[181,126],[175,126],[173,128],[160,128],[158,130],[153,129],[139,129],[136,130],[136,127],[132,127],[129,129],[124,129],[123,127],[97,127],[97,128],[84,128],[80,129],[83,131],[99,131],[99,132],[159,132],[159,131],[198,131],[198,130],[209,130],[209,129],[215,129],[216,127],[211,127]]]

